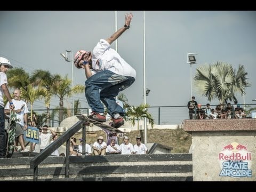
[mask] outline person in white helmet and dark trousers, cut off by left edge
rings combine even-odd
[[[7,101],[10,103],[10,110],[14,109],[12,98],[7,87],[7,76],[6,71],[13,68],[9,60],[0,57],[0,158],[5,158],[6,155],[6,134],[4,130],[4,99],[5,95]]]

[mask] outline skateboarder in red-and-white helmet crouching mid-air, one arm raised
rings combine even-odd
[[[74,64],[85,69],[85,97],[92,109],[89,118],[105,122],[102,101],[108,108],[113,122],[110,126],[118,128],[124,124],[124,109],[116,103],[115,97],[120,91],[135,81],[136,71],[114,50],[110,48],[124,31],[130,28],[133,14],[125,15],[125,25],[107,39],[100,39],[93,51],[80,50],[75,54]],[[99,92],[99,90],[101,90]]]

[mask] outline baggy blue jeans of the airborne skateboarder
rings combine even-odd
[[[131,86],[134,81],[133,77],[117,75],[110,70],[91,76],[85,81],[85,97],[92,111],[104,113],[104,107],[100,102],[102,101],[111,117],[116,113],[124,116],[124,109],[116,103],[115,97],[120,91]]]

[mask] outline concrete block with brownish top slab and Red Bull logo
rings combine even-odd
[[[256,181],[256,119],[185,120],[194,181]]]

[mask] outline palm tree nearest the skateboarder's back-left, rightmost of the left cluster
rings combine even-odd
[[[85,86],[84,85],[76,85],[73,87],[73,89],[70,87],[71,80],[68,79],[68,76],[66,75],[64,78],[62,78],[59,82],[59,87],[56,87],[55,95],[60,99],[59,105],[60,105],[60,111],[59,111],[59,121],[63,121],[63,99],[65,97],[70,98],[72,96],[72,93],[83,93]]]

